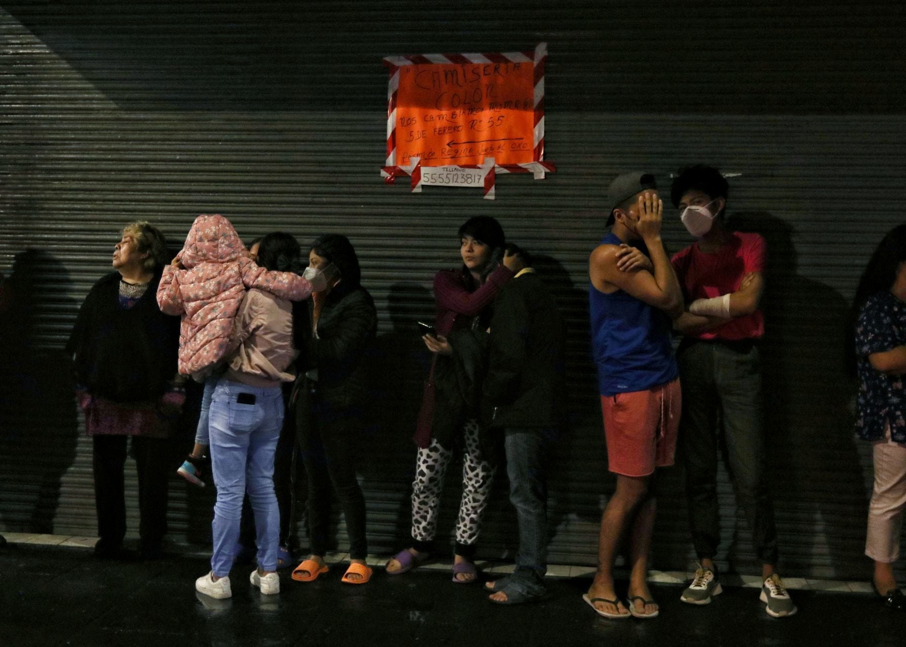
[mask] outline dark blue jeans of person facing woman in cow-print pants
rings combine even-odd
[[[516,507],[519,550],[511,580],[527,594],[544,594],[547,572],[547,479],[545,456],[553,430],[506,429],[506,475]]]

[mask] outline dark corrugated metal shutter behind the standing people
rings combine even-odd
[[[0,9],[0,269],[19,301],[3,323],[0,527],[93,534],[91,443],[77,434],[61,349],[127,221],[178,246],[193,217],[306,241],[348,234],[379,307],[376,425],[363,441],[372,551],[408,534],[410,443],[427,358],[412,323],[431,277],[456,266],[467,217],[498,217],[545,264],[570,325],[571,430],[550,483],[551,559],[593,564],[612,491],[588,359],[587,256],[608,181],[707,161],[730,211],[770,250],[764,348],[770,481],[785,573],[861,576],[870,459],[852,439],[843,320],[872,247],[902,220],[903,8],[473,0],[5,2]],[[546,41],[545,181],[468,190],[381,184],[386,72],[398,53],[512,51]],[[672,250],[688,244],[678,219]],[[129,472],[128,472],[129,473]],[[450,478],[441,528],[458,499]],[[129,473],[134,502],[134,473]],[[691,558],[679,470],[659,484],[653,564]],[[753,550],[720,481],[724,553]],[[171,535],[203,541],[210,492],[173,481]],[[134,511],[131,511],[134,517]],[[482,546],[512,552],[505,479]],[[130,518],[130,528],[137,520]],[[345,544],[342,526],[338,529]]]

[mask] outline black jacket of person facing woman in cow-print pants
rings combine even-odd
[[[558,427],[564,411],[564,322],[535,273],[504,286],[494,304],[482,409],[490,427]]]

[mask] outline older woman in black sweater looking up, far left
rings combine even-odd
[[[127,440],[139,470],[141,551],[159,554],[167,531],[169,436],[183,396],[177,377],[179,319],[160,312],[158,284],[167,241],[157,227],[134,222],[113,250],[115,272],[85,297],[69,343],[85,430],[93,441],[98,535],[94,552],[118,555],[126,534],[123,466]]]

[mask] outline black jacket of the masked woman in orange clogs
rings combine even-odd
[[[318,338],[312,334],[311,299],[307,325],[296,326],[296,345],[303,352],[297,364],[299,380],[316,368],[322,405],[333,410],[362,407],[369,389],[368,354],[378,326],[374,301],[361,286],[342,290],[338,285],[325,298],[318,318]]]

